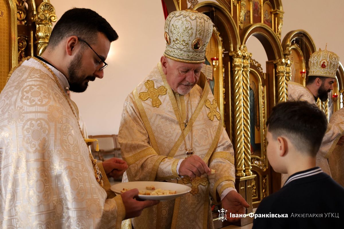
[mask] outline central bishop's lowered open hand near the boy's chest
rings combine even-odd
[[[227,220],[229,222],[234,222],[239,220],[240,218],[229,217],[230,214],[245,214],[245,207],[249,207],[250,205],[245,201],[245,199],[236,191],[230,191],[223,199],[222,199],[222,206],[225,210],[227,210]]]

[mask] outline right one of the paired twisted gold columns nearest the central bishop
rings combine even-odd
[[[243,56],[243,117],[244,117],[244,168],[247,176],[252,175],[251,144],[250,144],[250,58],[246,45],[240,46]]]

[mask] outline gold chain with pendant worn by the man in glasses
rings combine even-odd
[[[79,124],[79,120],[78,120],[78,117],[77,115],[75,114],[74,112],[74,109],[73,109],[73,106],[71,104],[71,102],[69,101],[68,97],[67,97],[67,94],[65,93],[65,91],[63,90],[60,82],[58,81],[57,79],[57,76],[55,75],[55,73],[43,62],[41,61],[40,59],[36,58],[36,57],[28,57],[28,58],[25,58],[24,60],[28,60],[30,58],[33,58],[34,60],[38,61],[41,65],[43,65],[50,73],[51,75],[54,77],[54,80],[57,84],[57,86],[60,88],[62,94],[64,95],[65,99],[67,100],[68,104],[69,104],[69,107],[71,108],[75,118],[76,118],[76,121],[78,123],[78,126],[79,126],[79,130],[80,130],[80,133],[81,135],[83,136],[83,139],[85,141],[85,136],[83,134],[83,131],[81,130],[81,127],[80,127],[80,124]],[[23,61],[22,61],[23,62]],[[20,63],[21,64],[21,63]],[[18,65],[19,66],[19,65]],[[85,141],[85,144],[87,145],[86,141]],[[95,173],[95,176],[96,176],[96,180],[97,182],[100,184],[101,187],[104,187],[104,183],[103,183],[103,175],[101,174],[99,168],[98,168],[98,165],[97,165],[97,159],[94,159],[93,155],[91,152],[89,152],[89,158],[91,159],[91,162],[92,162],[92,165],[93,165],[93,169],[94,169],[94,173]]]

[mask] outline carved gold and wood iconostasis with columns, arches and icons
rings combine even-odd
[[[163,3],[168,13],[187,8],[186,0]],[[317,51],[316,46],[304,30],[290,31],[281,38],[281,0],[203,1],[194,9],[208,15],[214,23],[202,72],[233,143],[236,188],[250,204],[250,213],[281,185],[280,174],[271,169],[266,156],[266,119],[275,104],[287,100],[288,81],[305,85],[308,60]],[[43,52],[56,20],[49,0],[0,0],[0,90],[10,69],[22,58]],[[246,47],[251,36],[264,47],[266,63],[252,59]],[[266,66],[265,72],[262,65]],[[343,80],[340,64],[333,94],[327,102],[318,102],[328,117],[343,107]],[[216,217],[218,213],[214,211]],[[238,224],[245,225],[249,220],[250,217],[243,218]],[[220,220],[214,223],[216,228],[226,224]]]

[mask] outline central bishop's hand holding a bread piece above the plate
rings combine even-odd
[[[205,173],[210,175],[211,171],[202,158],[197,155],[185,158],[180,163],[179,175],[181,176],[190,176],[191,178],[195,178],[196,176],[199,177]]]

